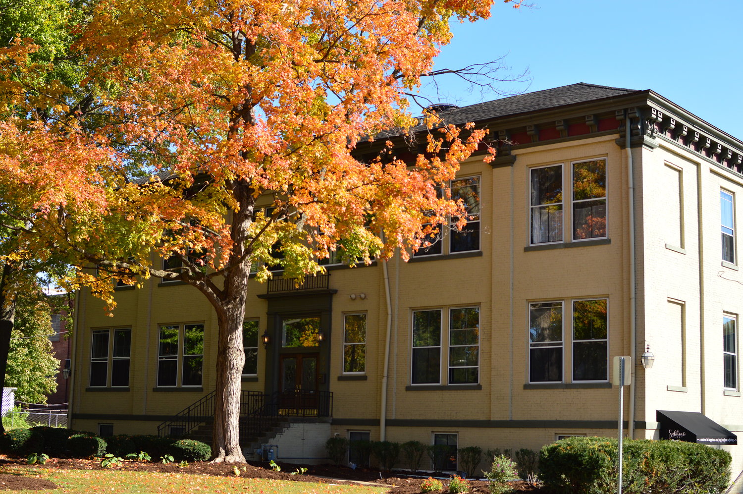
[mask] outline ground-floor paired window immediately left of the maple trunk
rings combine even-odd
[[[160,326],[158,387],[201,386],[203,363],[203,324]]]

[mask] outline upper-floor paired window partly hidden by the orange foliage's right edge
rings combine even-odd
[[[451,218],[448,253],[473,252],[480,250],[480,177],[456,178],[450,183],[452,201],[461,201],[464,206],[464,219],[467,224],[461,230],[457,230],[455,224],[459,218]],[[426,226],[426,225],[424,225]],[[413,256],[435,256],[444,253],[444,241],[442,239],[442,227],[434,233],[429,233],[424,238],[427,247],[421,247]]]

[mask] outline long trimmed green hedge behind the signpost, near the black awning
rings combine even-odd
[[[730,478],[730,453],[681,441],[623,441],[625,494],[720,493]],[[617,491],[617,440],[566,438],[542,447],[539,478],[555,494]]]

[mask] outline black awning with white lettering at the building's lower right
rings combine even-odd
[[[699,412],[656,410],[661,439],[700,444],[738,444],[738,436]]]

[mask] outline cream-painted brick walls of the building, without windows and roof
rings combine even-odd
[[[626,152],[615,143],[617,135],[587,137],[550,146],[514,151],[512,167],[493,168],[479,159],[462,164],[460,176],[481,179],[481,251],[473,256],[427,259],[410,263],[389,261],[392,332],[388,384],[382,389],[387,311],[381,261],[368,267],[332,269],[329,389],[334,393],[334,420],[328,429],[312,431],[308,424],[291,429],[282,438],[279,458],[291,455],[324,458],[320,443],[338,433],[369,431],[380,438],[381,395],[386,391],[386,438],[431,443],[435,432],[458,435],[458,444],[488,448],[537,449],[556,435],[617,434],[617,388],[583,386],[528,386],[528,303],[564,301],[565,383],[571,383],[572,299],[606,298],[609,307],[609,371],[612,357],[629,355],[629,203]],[[743,276],[736,267],[721,264],[719,189],[736,194],[736,221],[743,218],[743,181],[730,172],[660,141],[654,150],[632,150],[635,162],[637,241],[637,342],[639,357],[645,342],[655,354],[655,365],[644,370],[635,362],[637,437],[658,434],[657,409],[704,412],[731,430],[743,429],[740,396],[722,389],[721,316],[723,311],[743,314]],[[533,249],[529,244],[528,173],[533,166],[606,158],[609,242],[563,248]],[[667,165],[683,178],[683,245],[666,238],[669,213]],[[701,192],[701,194],[700,194]],[[569,190],[565,190],[565,195]],[[566,220],[569,218],[566,202]],[[701,211],[701,214],[700,214]],[[701,218],[701,219],[700,219]],[[740,222],[739,222],[740,223]],[[737,225],[736,225],[737,226]],[[700,245],[701,238],[701,245]],[[444,235],[444,242],[448,238]],[[675,242],[678,243],[678,242]],[[666,245],[669,244],[669,245]],[[668,248],[672,247],[672,248]],[[743,243],[737,247],[743,250]],[[700,275],[701,273],[701,275]],[[266,328],[267,302],[256,295],[265,286],[250,282],[246,317],[259,319]],[[360,299],[360,293],[366,295]],[[351,299],[350,295],[357,295]],[[127,420],[124,416],[172,415],[213,389],[217,324],[203,296],[189,286],[158,286],[149,280],[138,290],[116,293],[114,316],[103,313],[100,302],[83,292],[76,336],[73,412],[110,415],[116,430],[152,433],[157,421]],[[684,306],[683,358],[681,342],[667,324],[669,300]],[[444,312],[441,348],[441,386],[410,386],[412,311],[426,308],[477,306],[480,308],[479,386],[452,389],[447,385],[447,313]],[[343,316],[367,314],[366,380],[339,380],[343,376]],[[153,391],[157,372],[160,324],[204,322],[203,391]],[[85,391],[90,363],[91,329],[132,328],[132,370],[129,392]],[[739,328],[740,334],[740,328]],[[259,345],[256,382],[244,389],[265,389],[266,354]],[[684,369],[681,377],[681,369]],[[670,386],[670,387],[669,387]],[[628,390],[629,392],[629,390]],[[731,394],[731,393],[728,393]],[[735,394],[735,393],[733,393]],[[625,420],[629,417],[625,396]],[[429,420],[422,423],[416,420]],[[409,422],[405,422],[409,420]],[[471,426],[478,420],[482,426]],[[575,422],[586,421],[583,426]],[[74,427],[96,427],[98,421],[76,420]],[[496,422],[497,421],[497,422]],[[529,421],[529,422],[518,422]],[[646,423],[646,429],[642,424]],[[341,425],[343,424],[343,425]],[[367,425],[364,425],[367,424]],[[368,425],[371,424],[371,425]],[[571,425],[572,424],[572,425]],[[600,425],[599,425],[600,424]],[[322,426],[324,427],[324,426]],[[301,432],[301,434],[300,434]],[[322,436],[322,438],[320,438]],[[276,442],[271,442],[276,443]],[[304,444],[304,446],[302,446]],[[734,474],[743,469],[736,446]],[[484,467],[484,465],[483,465]]]

